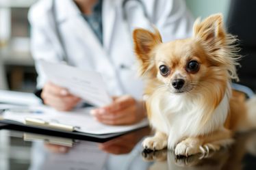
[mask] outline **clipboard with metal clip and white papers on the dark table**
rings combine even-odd
[[[25,109],[12,108],[3,111],[1,122],[12,124],[12,126],[86,134],[86,136],[99,139],[118,136],[149,124],[147,119],[143,119],[141,122],[129,126],[109,126],[95,121],[89,112],[90,108],[78,109],[72,112],[60,112],[46,106]]]

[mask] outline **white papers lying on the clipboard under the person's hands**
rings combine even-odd
[[[143,119],[138,124],[129,126],[108,126],[101,124],[93,119],[90,115],[90,109],[77,109],[75,111],[60,112],[46,106],[28,107],[20,109],[10,109],[5,111],[2,115],[3,119],[13,120],[25,124],[26,118],[34,118],[44,120],[46,122],[53,122],[68,126],[74,126],[76,131],[90,134],[112,134],[119,132],[128,132],[137,128],[147,126],[149,123],[147,119]]]

